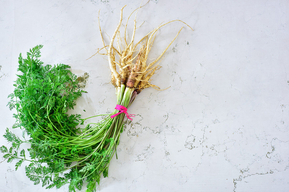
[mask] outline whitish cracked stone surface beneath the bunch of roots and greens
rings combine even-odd
[[[124,20],[140,1],[0,0],[0,127],[14,123],[6,104],[16,79],[18,55],[42,44],[45,64],[65,63],[89,74],[76,110],[84,116],[114,109],[105,43],[124,9]],[[288,191],[289,189],[289,2],[152,0],[137,16],[136,39],[161,22],[150,59],[158,57],[184,27],[160,63],[153,84],[129,109],[98,191]],[[131,36],[132,18],[128,35]],[[122,26],[122,30],[124,25]],[[88,59],[88,60],[86,60]],[[82,110],[85,109],[86,112]],[[18,130],[13,130],[20,133]],[[9,145],[3,137],[1,145]],[[24,166],[15,171],[1,155],[0,191],[68,191],[33,185]],[[85,190],[83,190],[85,191]]]

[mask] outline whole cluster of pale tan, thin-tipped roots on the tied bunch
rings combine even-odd
[[[168,46],[166,46],[166,48],[158,56],[158,58],[156,58],[153,62],[147,64],[149,52],[151,51],[158,30],[161,27],[164,27],[165,25],[168,25],[169,23],[176,21],[182,22],[188,27],[190,26],[181,20],[172,20],[166,22],[165,24],[159,25],[158,27],[147,33],[147,35],[145,35],[137,43],[134,44],[134,37],[136,33],[136,16],[138,9],[140,8],[138,7],[136,10],[134,10],[137,12],[134,18],[134,28],[131,36],[131,41],[128,44],[126,38],[127,22],[133,12],[130,14],[126,22],[124,37],[122,40],[120,35],[120,26],[123,20],[122,16],[124,7],[121,8],[120,20],[110,40],[108,49],[106,49],[107,46],[104,43],[102,34],[101,39],[104,46],[103,48],[106,50],[106,54],[108,55],[109,66],[112,74],[111,82],[114,86],[116,86],[116,88],[121,87],[117,88],[118,90],[117,94],[119,94],[118,96],[120,97],[119,99],[122,100],[124,98],[124,95],[122,94],[125,93],[126,87],[127,89],[129,88],[129,91],[126,90],[126,93],[130,95],[129,98],[131,98],[131,96],[134,95],[132,99],[134,100],[136,95],[138,95],[143,89],[147,87],[153,87],[154,89],[161,90],[158,86],[151,84],[150,79],[153,76],[153,74],[155,74],[156,71],[160,69],[159,63],[162,60],[164,53],[168,50],[169,46],[175,41],[175,39],[177,38],[183,27],[181,27],[177,35],[174,37],[174,39],[172,39],[172,41],[168,44]],[[190,29],[192,28],[190,27]],[[101,32],[100,25],[99,30]],[[116,47],[114,47],[115,39],[116,39]],[[137,50],[137,47],[139,45],[140,49]],[[117,61],[115,59],[115,55],[119,56],[119,59]],[[156,64],[157,62],[159,63]],[[119,72],[117,72],[116,65],[118,66]],[[132,101],[130,102],[130,104],[131,103]]]

